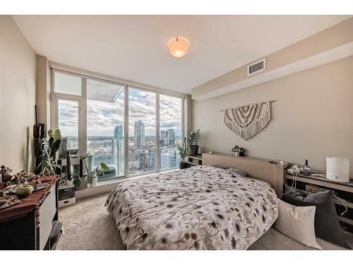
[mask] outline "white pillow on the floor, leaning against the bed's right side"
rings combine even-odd
[[[287,237],[308,247],[322,249],[315,237],[315,206],[293,206],[278,200],[278,218],[275,228]]]

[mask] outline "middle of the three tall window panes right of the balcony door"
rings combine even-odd
[[[157,170],[156,94],[128,89],[128,175],[142,175]]]

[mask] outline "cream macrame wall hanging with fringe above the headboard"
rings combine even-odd
[[[225,125],[242,139],[251,139],[270,122],[271,102],[274,100],[221,110]]]

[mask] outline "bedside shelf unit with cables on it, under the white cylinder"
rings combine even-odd
[[[321,175],[304,176],[301,174],[287,174],[286,182],[288,185],[295,183],[296,191],[309,194],[315,191],[330,191],[333,196],[333,203],[337,218],[342,229],[353,232],[353,180],[350,182],[335,182]],[[346,211],[347,210],[347,211]]]

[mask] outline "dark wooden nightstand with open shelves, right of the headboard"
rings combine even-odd
[[[285,178],[287,184],[292,185],[294,176],[286,175]],[[345,200],[345,206],[348,208],[348,211],[343,216],[340,216],[340,214],[345,211],[345,206],[343,206],[339,199],[333,198],[338,220],[344,223],[345,226],[349,228],[350,232],[353,232],[353,180],[351,179],[350,182],[333,182],[332,180],[320,176],[297,175],[297,189],[306,192],[307,185],[329,189],[336,192],[341,199]]]

